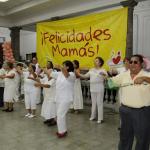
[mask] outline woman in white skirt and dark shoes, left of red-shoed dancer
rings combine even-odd
[[[45,69],[45,76],[35,86],[43,88],[44,101],[41,109],[41,116],[45,118],[44,124],[56,125],[56,80],[48,77],[48,70]]]

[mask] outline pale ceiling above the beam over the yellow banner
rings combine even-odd
[[[121,1],[123,0],[9,0],[0,2],[0,26],[30,28],[30,25],[39,21],[117,6]]]

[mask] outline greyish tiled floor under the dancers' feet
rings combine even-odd
[[[16,103],[15,111],[0,111],[0,150],[117,150],[119,116],[105,109],[103,124],[89,121],[89,107],[81,114],[68,114],[69,134],[64,139],[55,135],[57,127],[47,127],[40,117],[24,118],[24,104]]]

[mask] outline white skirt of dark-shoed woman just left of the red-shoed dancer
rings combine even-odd
[[[44,99],[42,104],[41,116],[46,120],[56,117],[56,103],[51,100]]]

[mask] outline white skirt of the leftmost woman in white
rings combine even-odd
[[[16,93],[16,86],[10,85],[4,88],[4,102],[14,102],[14,96]]]

